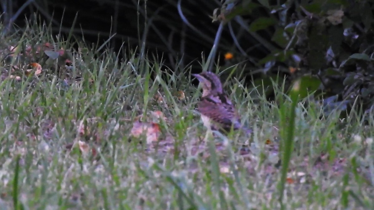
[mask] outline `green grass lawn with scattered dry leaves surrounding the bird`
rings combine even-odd
[[[189,69],[166,74],[161,60],[140,61],[126,49],[119,62],[109,50],[95,54],[103,46],[83,43],[84,53],[60,67],[35,52],[46,42],[73,46],[43,25],[1,40],[1,209],[280,209],[279,198],[284,209],[374,208],[373,113],[366,124],[355,112],[340,119],[317,102],[295,103],[281,88],[268,102],[255,87],[229,80],[225,89],[254,133],[204,140]],[[39,77],[24,75],[31,62],[42,65]],[[131,136],[140,114],[159,124],[157,142]]]

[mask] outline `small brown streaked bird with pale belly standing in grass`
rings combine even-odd
[[[200,112],[203,124],[210,128],[211,122],[218,124],[226,132],[231,128],[233,130],[242,129],[247,134],[252,132],[240,123],[239,114],[229,97],[224,93],[222,83],[217,74],[213,72],[202,72],[200,74],[192,74],[199,80],[202,86],[203,94],[197,103],[197,111]]]

